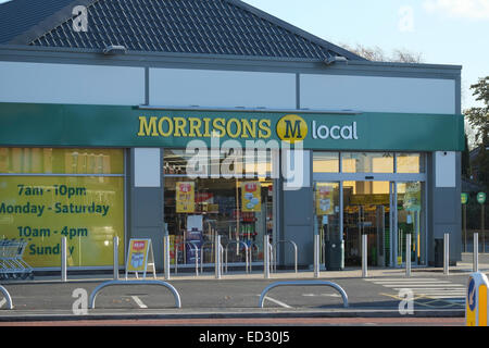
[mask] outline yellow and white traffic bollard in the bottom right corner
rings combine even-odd
[[[467,326],[487,326],[489,282],[486,274],[472,273],[467,282],[465,320]]]

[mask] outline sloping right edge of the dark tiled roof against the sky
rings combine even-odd
[[[335,44],[326,41],[325,39],[322,39],[322,38],[313,35],[313,34],[311,34],[309,32],[305,32],[304,29],[301,29],[301,28],[299,28],[299,27],[297,27],[297,26],[294,26],[294,25],[292,25],[292,24],[290,24],[288,22],[285,22],[284,20],[280,20],[278,17],[276,17],[276,16],[274,16],[274,15],[272,15],[272,14],[269,14],[269,13],[263,11],[263,10],[260,10],[260,9],[249,4],[249,3],[246,3],[246,2],[243,2],[241,0],[224,0],[224,1],[226,1],[226,2],[228,2],[230,4],[234,4],[236,7],[239,7],[239,8],[243,9],[243,10],[246,10],[248,12],[251,12],[252,14],[261,17],[262,20],[265,20],[265,21],[272,22],[272,23],[274,23],[274,24],[276,24],[278,26],[281,26],[285,29],[287,29],[287,30],[289,30],[289,32],[291,32],[291,33],[293,33],[293,34],[296,34],[298,36],[301,36],[301,37],[303,37],[303,38],[305,38],[305,39],[308,39],[308,40],[310,40],[310,41],[312,41],[312,42],[314,42],[316,45],[319,45],[319,46],[324,47],[327,50],[337,51],[339,54],[346,57],[349,60],[368,61],[367,59],[365,59],[365,58],[363,58],[361,55],[358,55],[358,54],[355,54],[355,53],[353,53],[353,52],[351,52],[349,50],[346,50],[344,48],[341,48],[341,47],[339,47],[339,46],[337,46]]]

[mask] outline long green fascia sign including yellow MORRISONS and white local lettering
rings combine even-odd
[[[148,110],[127,105],[0,103],[0,146],[242,147],[301,142],[304,149],[462,151],[463,115]],[[212,142],[218,140],[218,144]],[[261,145],[258,144],[261,141]],[[283,141],[283,142],[281,142]],[[230,144],[230,142],[229,142]],[[265,145],[263,145],[265,144]]]

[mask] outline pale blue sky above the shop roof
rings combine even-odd
[[[0,0],[5,2],[4,0]],[[424,63],[462,65],[462,108],[479,105],[469,86],[489,75],[489,0],[244,0],[336,45],[421,53]]]

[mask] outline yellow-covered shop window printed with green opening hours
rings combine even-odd
[[[60,266],[61,237],[68,266],[111,266],[113,237],[124,245],[124,150],[0,148],[0,226],[28,243],[34,268]]]

